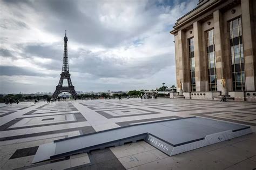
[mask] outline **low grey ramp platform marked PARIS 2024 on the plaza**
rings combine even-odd
[[[250,126],[199,117],[114,128],[40,145],[32,163],[145,140],[168,155],[252,133]]]

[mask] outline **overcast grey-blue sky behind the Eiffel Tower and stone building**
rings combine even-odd
[[[169,31],[197,2],[0,0],[0,93],[53,92],[65,30],[76,91],[176,84]]]

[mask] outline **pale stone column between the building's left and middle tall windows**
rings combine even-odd
[[[193,32],[194,32],[194,60],[195,60],[195,76],[196,76],[196,91],[205,91],[204,83],[201,80],[201,69],[203,62],[200,62],[202,59],[202,35],[201,35],[201,24],[199,22],[193,23]]]

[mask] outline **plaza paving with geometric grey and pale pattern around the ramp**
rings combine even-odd
[[[31,164],[38,146],[53,140],[191,116],[249,125],[254,133],[172,157],[139,141]],[[0,105],[0,169],[255,169],[255,144],[256,103],[136,98]]]

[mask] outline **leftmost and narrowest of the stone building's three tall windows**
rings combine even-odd
[[[196,91],[196,78],[194,73],[194,38],[188,39],[188,49],[190,57],[190,91]]]

